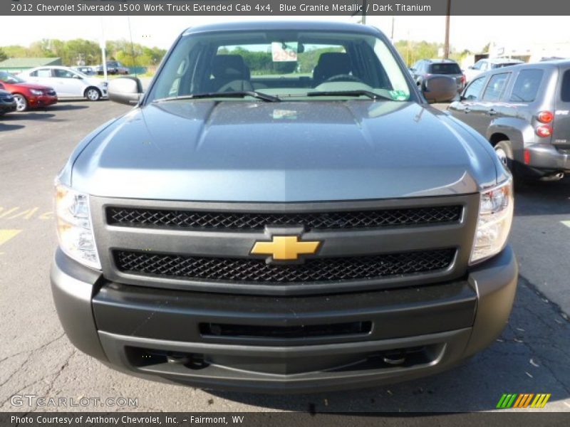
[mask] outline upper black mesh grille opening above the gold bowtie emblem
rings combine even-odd
[[[247,212],[171,211],[108,207],[107,221],[120,226],[262,230],[267,226],[374,228],[457,222],[461,206],[431,206],[375,211],[252,214]]]

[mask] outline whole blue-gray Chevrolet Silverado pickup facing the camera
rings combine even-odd
[[[512,177],[375,28],[180,35],[56,181],[53,298],[115,369],[203,388],[360,388],[450,368],[512,308]]]

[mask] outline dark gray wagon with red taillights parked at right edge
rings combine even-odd
[[[570,172],[570,60],[484,73],[449,111],[484,135],[515,174],[558,180]]]

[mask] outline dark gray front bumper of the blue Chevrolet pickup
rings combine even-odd
[[[204,388],[287,393],[414,379],[484,349],[508,320],[517,263],[507,246],[464,280],[271,297],[108,282],[58,250],[51,285],[71,342],[115,369]],[[339,324],[368,329],[327,329]],[[232,334],[239,327],[276,333]],[[323,333],[291,334],[304,327]]]

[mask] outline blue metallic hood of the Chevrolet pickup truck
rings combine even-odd
[[[333,201],[468,194],[497,181],[492,149],[415,102],[214,102],[136,107],[74,159],[95,196]]]

